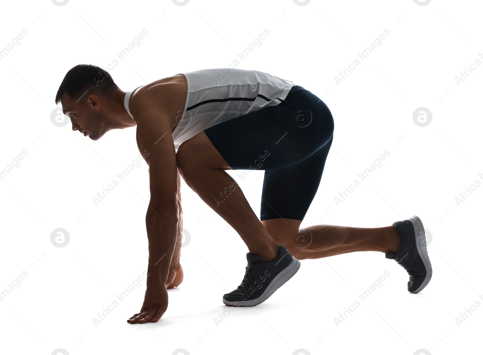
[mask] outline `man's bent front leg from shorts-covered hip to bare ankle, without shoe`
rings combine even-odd
[[[238,232],[250,253],[271,261],[278,255],[279,244],[224,170],[279,170],[297,165],[321,155],[316,152],[326,152],[328,148],[321,147],[331,139],[333,129],[327,105],[302,87],[294,87],[278,105],[231,118],[186,140],[178,148],[177,164],[186,184]],[[284,213],[282,217],[294,216]]]

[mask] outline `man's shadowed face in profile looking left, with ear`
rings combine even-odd
[[[99,96],[91,94],[81,99],[71,99],[66,93],[62,96],[62,111],[71,119],[72,130],[78,130],[85,137],[97,141],[109,129],[102,113]]]

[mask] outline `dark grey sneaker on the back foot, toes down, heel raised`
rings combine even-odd
[[[409,274],[408,291],[418,293],[431,280],[433,270],[427,255],[426,235],[423,222],[418,216],[397,221],[393,226],[401,234],[401,245],[396,254],[387,253],[386,258],[395,259]]]

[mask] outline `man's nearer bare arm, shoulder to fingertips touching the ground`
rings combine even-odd
[[[151,198],[146,212],[148,277],[141,312],[129,323],[157,322],[168,308],[166,283],[178,231],[178,170],[168,113],[146,95],[138,107],[136,141],[149,166]],[[139,110],[141,111],[141,109]],[[132,110],[131,110],[132,112]]]

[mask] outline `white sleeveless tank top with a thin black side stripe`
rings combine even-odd
[[[176,117],[178,125],[171,133],[176,151],[181,143],[206,128],[278,105],[295,85],[263,71],[237,68],[202,69],[179,74],[185,75],[188,90],[185,109]],[[124,106],[131,117],[129,98],[136,89],[128,91],[124,98]]]

